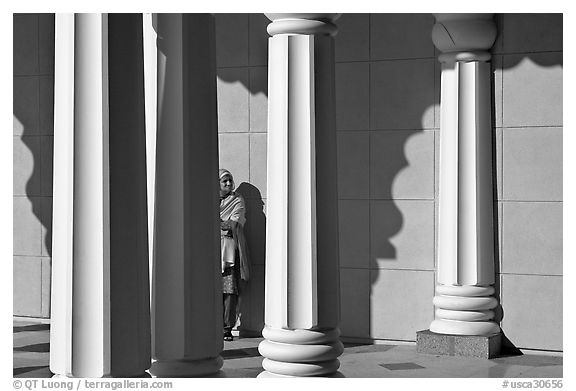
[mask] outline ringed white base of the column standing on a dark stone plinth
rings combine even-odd
[[[498,300],[491,286],[437,285],[436,319],[430,331],[438,334],[488,336],[498,334],[493,321]]]

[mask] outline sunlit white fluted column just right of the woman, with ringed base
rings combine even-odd
[[[336,372],[339,340],[338,200],[334,98],[337,14],[267,14],[268,206],[266,370]]]

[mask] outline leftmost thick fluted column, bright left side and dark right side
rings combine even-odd
[[[141,29],[138,15],[56,15],[57,376],[139,376],[150,367]]]

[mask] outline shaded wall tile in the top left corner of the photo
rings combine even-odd
[[[14,75],[38,73],[38,16],[14,15]]]

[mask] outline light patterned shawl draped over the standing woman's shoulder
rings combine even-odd
[[[220,201],[220,219],[222,221],[231,220],[236,224],[232,226],[232,236],[240,254],[240,278],[248,281],[250,270],[248,267],[248,245],[244,236],[244,223],[246,223],[246,207],[244,198],[235,192],[230,193]]]

